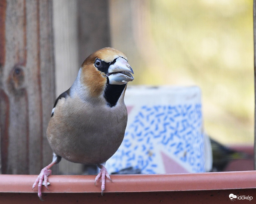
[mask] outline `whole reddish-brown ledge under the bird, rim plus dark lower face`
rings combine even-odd
[[[37,175],[0,175],[0,203],[40,203]],[[95,175],[51,175],[45,203],[226,203],[230,193],[256,200],[256,171],[111,175],[101,196]],[[241,198],[241,197],[240,197]],[[89,200],[90,201],[89,201]]]

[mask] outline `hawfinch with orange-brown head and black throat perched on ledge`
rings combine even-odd
[[[47,127],[47,139],[53,150],[52,162],[44,167],[32,188],[48,189],[50,168],[62,158],[75,163],[99,167],[101,194],[105,177],[111,180],[106,161],[123,141],[127,125],[124,95],[127,83],[133,81],[133,69],[125,54],[104,47],[89,55],[81,65],[73,85],[56,99]],[[44,183],[43,183],[44,182]]]

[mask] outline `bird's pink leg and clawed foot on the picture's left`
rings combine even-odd
[[[51,170],[50,168],[56,164],[57,162],[56,161],[53,161],[51,162],[51,164],[49,164],[47,167],[44,167],[40,174],[38,175],[36,181],[34,182],[33,186],[32,186],[32,189],[34,190],[34,188],[36,187],[36,185],[38,184],[38,197],[40,198],[41,201],[43,201],[42,199],[42,192],[41,192],[41,189],[42,189],[42,183],[43,183],[43,180],[44,180],[44,186],[48,189],[48,184],[47,184],[47,181],[48,181],[48,176],[51,175]]]

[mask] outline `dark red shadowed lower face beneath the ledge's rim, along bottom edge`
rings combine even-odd
[[[232,202],[229,194],[249,195],[253,199]],[[36,193],[0,193],[0,203],[33,203],[42,204]],[[241,190],[209,190],[209,191],[171,191],[171,192],[143,192],[143,193],[43,193],[43,204],[57,203],[118,203],[118,204],[221,204],[221,203],[255,203],[255,189]]]

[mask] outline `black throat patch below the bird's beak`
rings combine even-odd
[[[120,98],[126,84],[116,85],[116,84],[107,84],[107,87],[104,92],[104,98],[108,102],[110,107],[116,105],[118,99]]]

